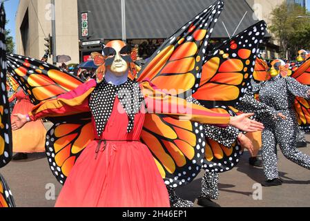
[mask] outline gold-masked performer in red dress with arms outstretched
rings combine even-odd
[[[195,122],[236,126],[243,131],[262,129],[249,115],[230,117],[178,101],[191,114],[162,106],[172,98],[154,97],[150,83],[128,78],[130,48],[122,41],[110,41],[104,48],[106,73],[100,83],[90,79],[56,99],[41,102],[29,115],[15,115],[13,130],[35,119],[91,111],[96,139],[90,142],[73,166],[56,206],[167,207],[170,206],[164,180],[151,151],[139,141],[146,111],[173,115]],[[159,107],[159,108],[158,108]],[[160,110],[159,110],[160,109]],[[165,108],[164,108],[165,109]],[[176,110],[176,111],[173,111]],[[251,114],[250,114],[251,115]]]

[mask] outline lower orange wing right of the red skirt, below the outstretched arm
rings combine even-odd
[[[141,140],[153,154],[166,185],[182,186],[200,173],[206,145],[202,124],[147,114]]]

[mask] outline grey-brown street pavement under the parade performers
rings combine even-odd
[[[49,126],[46,124],[46,126]],[[310,155],[310,135],[307,148],[300,151]],[[291,207],[310,206],[310,171],[285,159],[278,151],[278,169],[284,181],[282,186],[262,187],[264,181],[262,169],[249,165],[249,153],[244,153],[238,166],[232,171],[220,174],[220,199],[216,200],[223,207]],[[28,160],[10,162],[1,169],[19,207],[52,207],[55,200],[50,196],[54,192],[55,199],[61,190],[50,172],[45,154],[32,154]],[[177,189],[182,198],[195,201],[200,195],[201,179],[204,173],[187,186]]]

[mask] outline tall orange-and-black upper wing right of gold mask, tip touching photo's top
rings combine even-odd
[[[137,81],[151,81],[171,95],[197,90],[207,46],[223,6],[223,1],[217,1],[177,30],[148,59]]]

